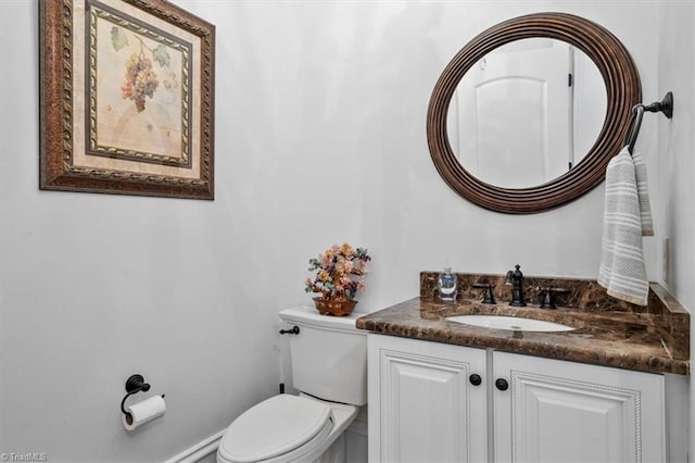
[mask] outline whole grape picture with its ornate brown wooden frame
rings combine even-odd
[[[41,0],[48,190],[214,198],[215,26],[164,0]]]

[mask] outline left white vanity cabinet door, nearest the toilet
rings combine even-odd
[[[485,351],[376,334],[368,340],[369,461],[486,461]]]

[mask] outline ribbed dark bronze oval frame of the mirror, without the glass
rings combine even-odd
[[[543,185],[504,188],[476,178],[460,165],[448,142],[446,117],[454,91],[466,72],[490,51],[515,40],[547,37],[566,41],[596,64],[606,85],[606,118],[591,150],[571,171]],[[446,65],[427,112],[427,140],[442,178],[463,198],[508,214],[547,211],[576,200],[604,180],[618,154],[632,107],[642,100],[640,75],[624,46],[609,30],[566,13],[534,13],[500,23],[470,40]]]

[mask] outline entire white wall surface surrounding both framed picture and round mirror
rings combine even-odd
[[[655,2],[631,3],[630,21],[622,1],[176,3],[217,25],[214,202],[39,191],[37,5],[0,1],[0,451],[156,461],[222,429],[275,392],[276,313],[309,301],[307,260],[333,242],[374,256],[363,312],[446,262],[596,276],[603,188],[528,216],[469,204],[430,160],[427,104],[467,40],[539,11],[612,30],[660,98]],[[127,435],[131,373],[168,411]]]

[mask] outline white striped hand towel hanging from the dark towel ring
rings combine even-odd
[[[649,283],[644,267],[642,236],[654,235],[646,166],[628,148],[606,168],[606,201],[598,284],[608,295],[647,304]]]

